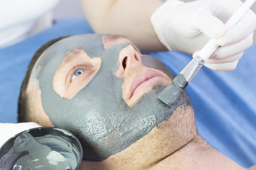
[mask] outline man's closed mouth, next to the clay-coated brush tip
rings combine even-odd
[[[154,70],[146,70],[137,74],[129,88],[128,105],[137,101],[143,94],[150,91],[156,84],[164,84],[167,86],[171,83],[171,79],[161,72]]]

